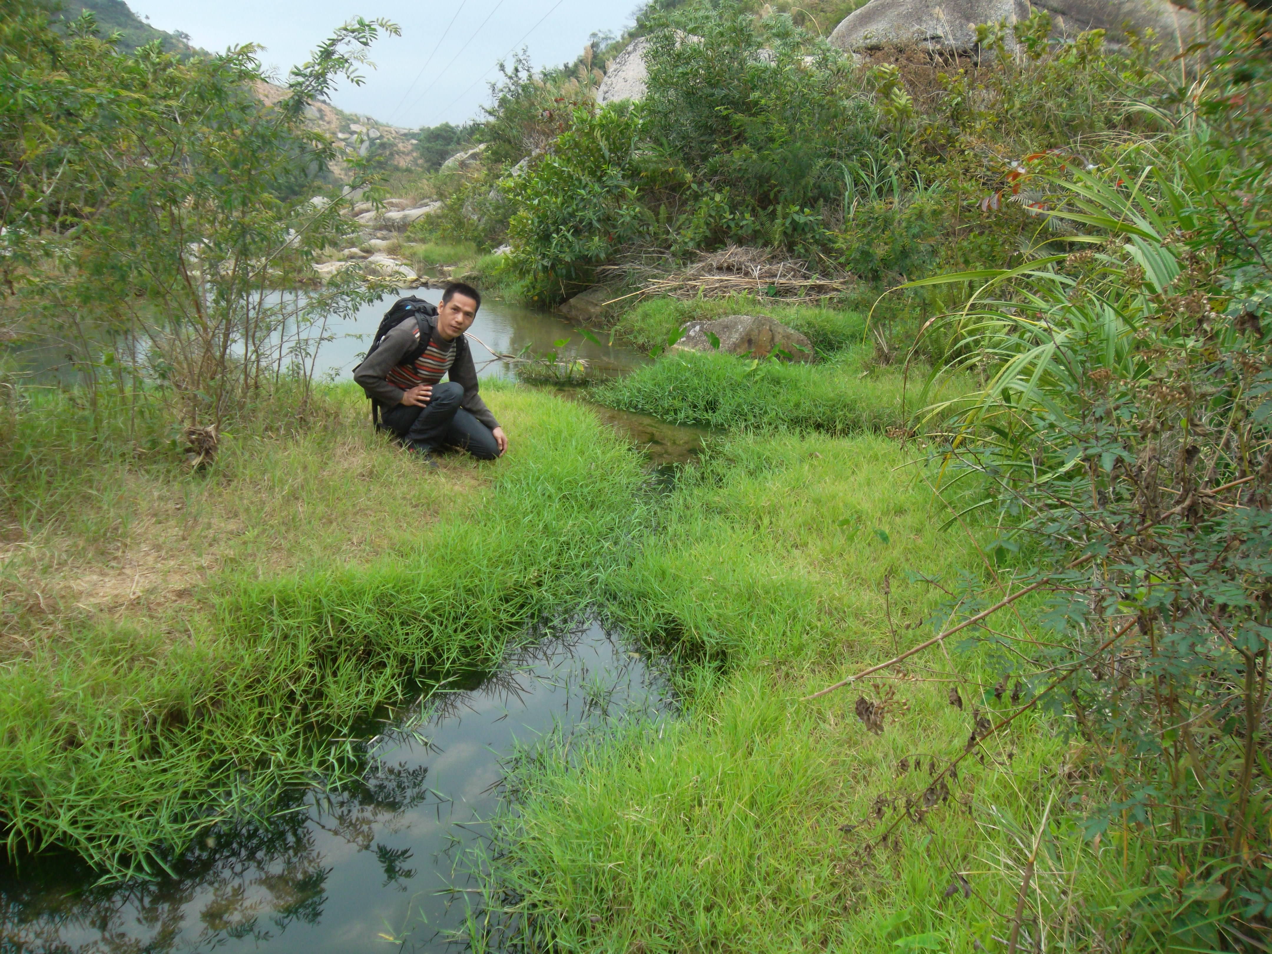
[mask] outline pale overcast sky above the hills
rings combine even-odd
[[[363,86],[342,84],[332,102],[349,112],[415,128],[459,123],[488,102],[495,64],[529,47],[536,69],[574,60],[598,31],[619,33],[639,0],[127,0],[139,17],[182,31],[210,51],[266,47],[280,75],[304,62],[333,27],[384,17],[402,28],[371,51]],[[450,27],[449,33],[446,32]],[[441,43],[439,48],[439,42]],[[434,56],[434,50],[436,55]]]

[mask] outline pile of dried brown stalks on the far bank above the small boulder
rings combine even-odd
[[[729,245],[700,256],[688,268],[645,280],[644,291],[672,298],[725,298],[758,295],[781,301],[801,301],[847,291],[845,272],[818,275],[806,262],[781,258],[773,249]]]

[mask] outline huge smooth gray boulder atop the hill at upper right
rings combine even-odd
[[[1196,24],[1196,14],[1166,0],[870,0],[843,18],[829,41],[842,50],[918,45],[971,52],[978,23],[1016,23],[1033,9],[1052,15],[1057,36],[1103,29],[1117,42],[1127,28],[1151,29],[1173,50],[1191,42]]]

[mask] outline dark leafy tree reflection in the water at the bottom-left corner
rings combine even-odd
[[[0,876],[0,950],[197,950],[225,939],[265,941],[294,922],[317,923],[331,873],[317,832],[374,847],[385,884],[411,878],[410,852],[375,845],[374,831],[429,798],[427,772],[370,759],[357,784],[319,796],[293,792],[266,823],[219,829],[173,865],[172,875],[153,881],[95,885],[97,875],[76,859],[27,861]],[[192,916],[202,925],[197,934]],[[73,945],[66,935],[92,940]]]

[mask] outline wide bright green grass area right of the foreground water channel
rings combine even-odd
[[[1004,950],[996,912],[1015,908],[1052,795],[1028,916],[1063,920],[1061,946],[1065,931],[1091,936],[1102,904],[1117,926],[1116,890],[1142,857],[1090,851],[1061,809],[1080,791],[1063,768],[1080,754],[1058,724],[1021,720],[923,808],[932,762],[964,752],[974,710],[1011,709],[985,656],[936,649],[799,701],[890,658],[894,639],[929,636],[949,611],[917,575],[948,585],[974,565],[973,542],[937,532],[943,513],[906,464],[871,435],[750,435],[682,481],[607,584],[630,631],[710,661],[683,673],[679,720],[522,764],[494,876],[519,898],[529,948]],[[861,696],[887,701],[881,734],[857,719]],[[907,804],[911,819],[869,848]]]

